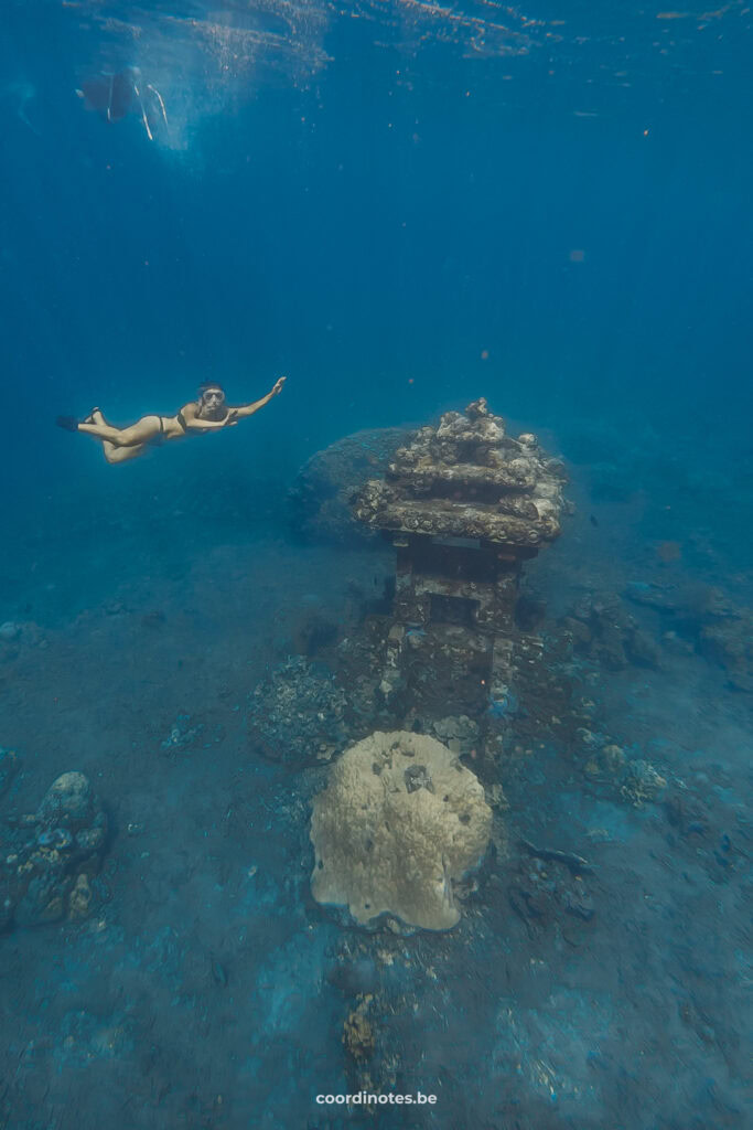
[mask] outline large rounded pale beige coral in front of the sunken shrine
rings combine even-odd
[[[312,892],[366,924],[391,913],[447,930],[459,919],[453,880],[487,849],[483,785],[434,738],[373,733],[332,766],[314,800]]]

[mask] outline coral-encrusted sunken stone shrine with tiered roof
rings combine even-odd
[[[505,702],[522,563],[559,536],[563,479],[534,435],[507,435],[482,399],[420,428],[386,478],[356,494],[356,518],[397,553],[387,702],[403,688],[420,697],[406,651],[453,681],[470,671],[492,709]]]

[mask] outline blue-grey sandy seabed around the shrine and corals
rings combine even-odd
[[[308,889],[310,782],[253,756],[245,711],[306,619],[353,624],[391,558],[297,546],[264,498],[198,531],[181,505],[121,520],[99,498],[43,537],[18,527],[0,745],[20,770],[0,815],[78,770],[111,837],[89,918],[0,938],[0,1125],[741,1125],[748,697],[692,653],[592,680],[608,732],[702,805],[694,831],[599,796],[550,748],[506,785],[515,836],[593,864],[581,929],[532,935],[502,860],[448,933],[342,927]],[[608,507],[598,529],[573,519],[532,566],[551,608],[647,575],[624,514],[614,533]],[[338,976],[347,958],[368,983]],[[375,984],[380,1078],[431,1109],[316,1104],[368,1078],[343,1025]]]

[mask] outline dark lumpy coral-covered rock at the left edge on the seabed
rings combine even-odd
[[[107,836],[105,816],[82,773],[63,773],[34,814],[3,833],[0,928],[84,918]]]

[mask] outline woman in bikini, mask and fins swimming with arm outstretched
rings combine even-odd
[[[100,440],[107,462],[123,463],[126,459],[135,459],[142,454],[148,446],[168,440],[182,440],[193,433],[200,435],[212,428],[234,427],[239,419],[253,416],[260,408],[269,405],[273,397],[279,395],[284,381],[284,376],[281,376],[261,400],[255,400],[252,405],[238,405],[237,408],[225,403],[225,390],[212,381],[201,385],[199,400],[184,405],[175,416],[142,416],[130,427],[120,428],[112,427],[99,408],[93,408],[84,420],[77,420],[75,416],[59,416],[55,423],[67,432],[85,432],[95,440]]]

